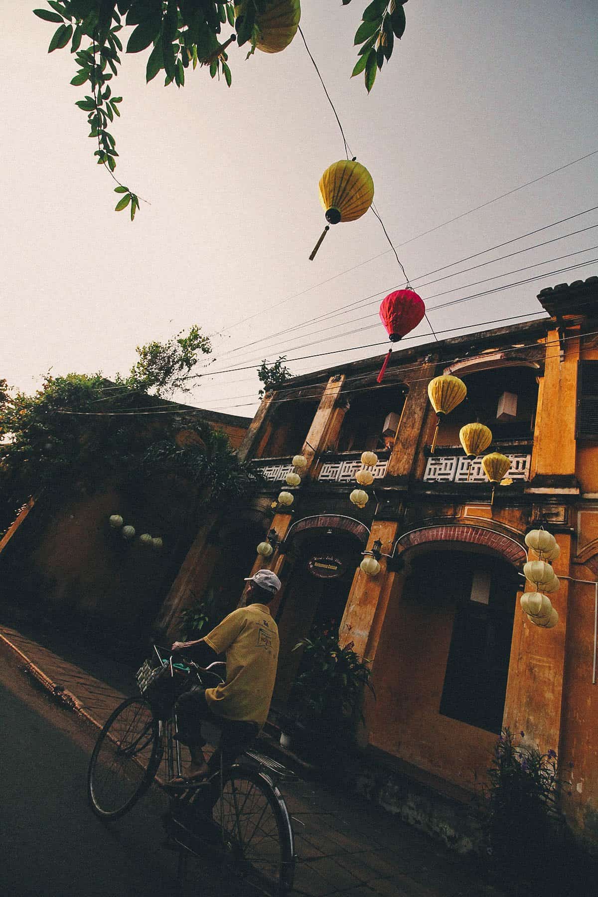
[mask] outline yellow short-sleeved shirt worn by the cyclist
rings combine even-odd
[[[238,607],[205,637],[217,654],[226,652],[226,682],[205,690],[214,713],[263,726],[278,663],[278,627],[267,605]]]

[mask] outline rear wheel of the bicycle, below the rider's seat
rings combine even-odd
[[[225,771],[212,809],[234,865],[274,894],[289,893],[295,852],[281,792],[264,772],[233,766]]]

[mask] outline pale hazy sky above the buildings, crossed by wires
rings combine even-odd
[[[116,185],[95,165],[85,114],[74,106],[88,92],[69,83],[74,57],[48,55],[53,26],[32,15],[36,5],[0,7],[0,378],[33,391],[50,368],[109,377],[130,368],[135,345],[194,323],[214,335],[214,371],[384,343],[377,303],[403,277],[374,215],[332,227],[308,261],[325,225],[317,183],[344,152],[299,34],[284,52],[247,61],[246,48],[233,46],[230,90],[199,68],[187,70],[179,91],[160,76],[146,85],[147,54],[123,54],[112,82],[124,97],[111,129],[116,173],[151,203],[132,223],[113,211]],[[422,276],[598,205],[598,154],[412,239],[598,149],[595,0],[411,0],[403,39],[369,96],[362,76],[350,79],[365,5],[302,0],[301,26],[351,150],[372,174],[391,239],[410,240],[399,257],[433,327],[473,331],[531,314],[543,287],[598,274],[596,262],[547,274],[598,258],[598,227],[455,274],[597,224],[594,211]],[[425,285],[446,274],[455,276]],[[433,309],[537,274],[546,276]],[[358,304],[313,323],[349,303]],[[424,341],[428,332],[425,322],[416,331]],[[316,342],[325,337],[334,338]],[[299,374],[384,351],[287,363]],[[184,400],[252,415],[257,388],[253,370],[214,375]]]

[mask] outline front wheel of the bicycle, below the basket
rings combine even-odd
[[[127,698],[108,717],[93,748],[87,795],[100,819],[117,819],[150,787],[162,756],[160,724],[147,701]]]

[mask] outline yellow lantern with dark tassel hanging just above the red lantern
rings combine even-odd
[[[364,215],[374,199],[374,181],[367,168],[354,159],[342,159],[327,168],[320,178],[320,202],[328,222],[309,257],[316,252],[331,224],[354,222]]]

